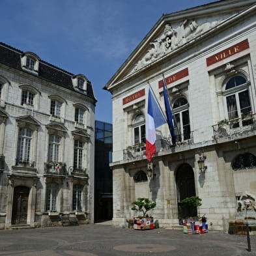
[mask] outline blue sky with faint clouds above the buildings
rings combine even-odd
[[[1,0],[1,42],[84,74],[98,100],[96,120],[112,122],[102,88],[162,14],[214,0]]]

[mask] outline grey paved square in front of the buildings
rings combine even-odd
[[[138,231],[111,225],[0,230],[0,256],[256,256],[256,236]]]

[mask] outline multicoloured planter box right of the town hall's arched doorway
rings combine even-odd
[[[198,219],[184,219],[183,220],[183,233],[194,235],[203,234],[208,232],[207,222],[202,222]]]

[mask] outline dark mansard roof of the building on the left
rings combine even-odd
[[[3,42],[0,42],[0,63],[4,64],[5,66],[14,68],[20,72],[26,72],[21,68],[21,56],[23,56],[25,53],[27,52],[20,51],[16,48],[8,46]],[[33,55],[35,55],[35,53],[33,53]],[[50,83],[54,83],[55,85],[59,85],[71,91],[80,93],[76,91],[72,85],[72,77],[75,76],[74,74],[58,68],[53,64],[47,63],[46,61],[42,61],[39,57],[38,61],[38,76],[31,73],[28,74],[31,76],[36,76],[37,78],[43,79],[45,81],[49,81]],[[96,102],[91,81],[87,81],[86,96]]]

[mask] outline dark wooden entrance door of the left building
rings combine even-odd
[[[14,198],[12,205],[12,224],[27,223],[27,205],[29,200],[29,188],[18,186],[14,188]]]

